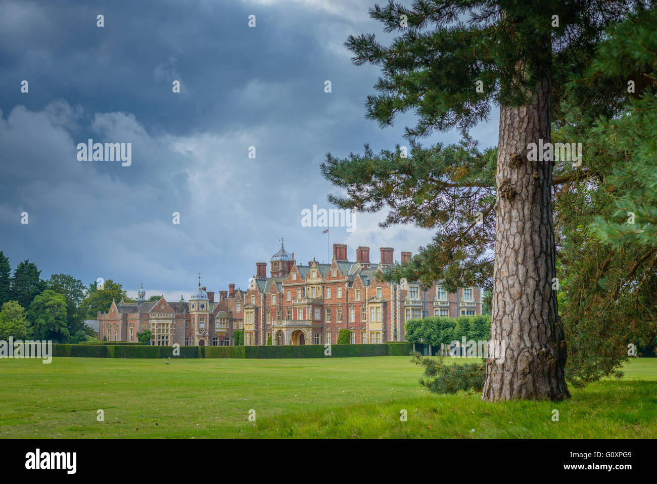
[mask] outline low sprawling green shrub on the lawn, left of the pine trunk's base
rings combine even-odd
[[[443,357],[424,358],[419,352],[413,353],[411,362],[424,366],[424,378],[420,385],[432,393],[457,393],[463,391],[481,391],[486,381],[486,365],[480,363],[443,364]]]

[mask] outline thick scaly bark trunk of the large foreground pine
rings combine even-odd
[[[529,143],[551,141],[550,102],[545,80],[530,105],[500,108],[491,342],[504,351],[489,351],[482,400],[570,397],[553,289],[553,161],[527,159]]]

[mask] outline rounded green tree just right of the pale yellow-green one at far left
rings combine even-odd
[[[66,299],[51,289],[37,295],[28,309],[32,336],[41,340],[68,341]]]

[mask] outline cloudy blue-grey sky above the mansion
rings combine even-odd
[[[329,243],[346,243],[350,260],[359,245],[372,262],[383,246],[396,260],[417,253],[432,231],[381,229],[385,211],[328,235],[302,224],[313,205],[336,208],[327,153],[408,145],[412,113],[385,129],[365,119],[380,73],[344,47],[351,34],[392,39],[369,18],[374,3],[0,2],[0,251],[12,269],[29,259],[43,279],[113,279],[130,297],[143,284],[178,301],[199,272],[208,291],[246,289],[256,262],[269,274],[281,237],[303,264],[327,262]],[[496,117],[471,134],[495,145]],[[129,166],[79,160],[88,139],[131,143]]]

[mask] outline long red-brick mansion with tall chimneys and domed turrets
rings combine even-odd
[[[275,253],[267,277],[267,264],[256,262],[256,275],[246,291],[229,284],[215,293],[206,287],[194,291],[189,302],[164,298],[146,301],[139,289],[136,303],[112,302],[108,312],[97,314],[101,339],[137,341],[137,333],[150,330],[152,345],[233,345],[233,332],[244,330],[245,345],[335,344],[340,329],[350,331],[351,343],[404,341],[405,322],[424,316],[481,314],[481,290],[464,287],[455,293],[440,284],[389,283],[382,270],[395,264],[392,247],[380,248],[380,262],[369,260],[369,247],[358,247],[355,262],[347,246],[333,244],[330,264],[314,258],[307,264],[288,254],[283,244]],[[401,253],[401,263],[410,252]]]

